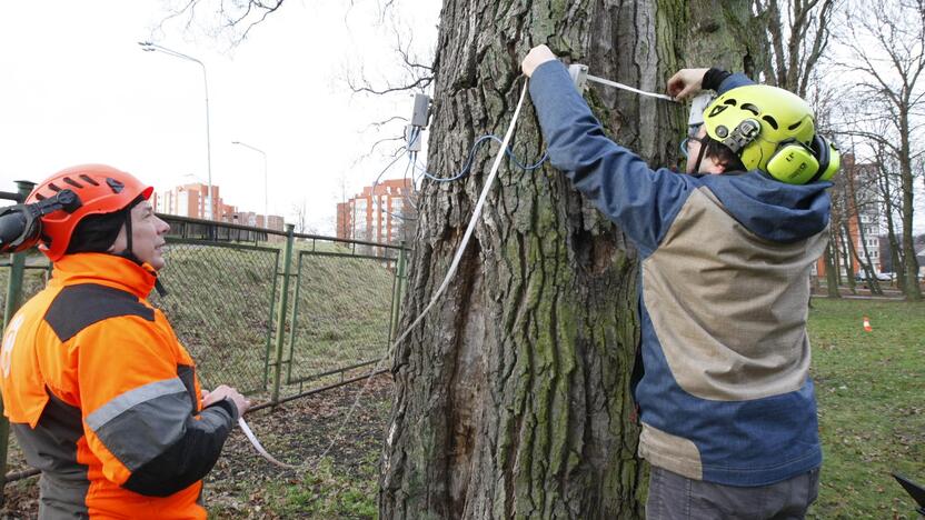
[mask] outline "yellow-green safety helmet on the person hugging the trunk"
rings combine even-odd
[[[817,164],[793,178],[768,171],[768,161],[782,146],[802,144],[810,150],[816,136],[809,103],[784,89],[766,84],[732,89],[706,108],[704,126],[707,136],[738,154],[748,170],[758,169],[790,183],[806,182],[818,170]]]

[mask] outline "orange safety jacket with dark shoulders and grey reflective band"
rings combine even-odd
[[[7,327],[3,413],[42,471],[42,519],[206,518],[201,479],[238,410],[201,409],[192,359],[146,299],[156,280],[120,257],[64,256]]]

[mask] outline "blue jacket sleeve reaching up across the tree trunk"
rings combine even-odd
[[[643,256],[655,251],[697,179],[664,168],[652,170],[608,139],[559,61],[534,71],[530,98],[551,164],[617,222]]]

